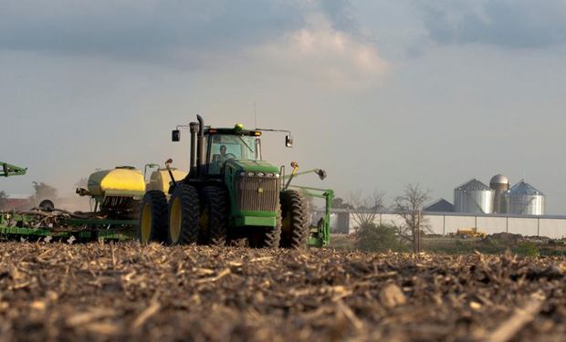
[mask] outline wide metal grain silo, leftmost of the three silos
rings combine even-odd
[[[493,190],[473,179],[454,189],[455,212],[493,212]]]

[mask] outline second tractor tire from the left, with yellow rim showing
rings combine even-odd
[[[169,229],[166,243],[196,244],[199,233],[200,203],[192,185],[175,186],[169,200]]]

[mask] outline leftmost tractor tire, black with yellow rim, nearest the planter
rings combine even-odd
[[[167,198],[163,192],[145,192],[140,209],[137,237],[142,244],[165,242],[167,233]]]

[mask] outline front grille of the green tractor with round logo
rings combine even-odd
[[[276,212],[279,202],[279,180],[273,177],[239,177],[236,184],[239,210]]]

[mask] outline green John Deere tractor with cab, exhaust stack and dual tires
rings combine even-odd
[[[138,228],[143,244],[307,245],[305,198],[283,184],[283,167],[261,156],[262,131],[288,132],[285,143],[292,147],[289,131],[212,128],[197,116],[197,122],[173,130],[173,141],[180,140],[182,127],[191,134],[191,168],[181,180],[171,175],[169,199],[164,192],[145,193]]]

